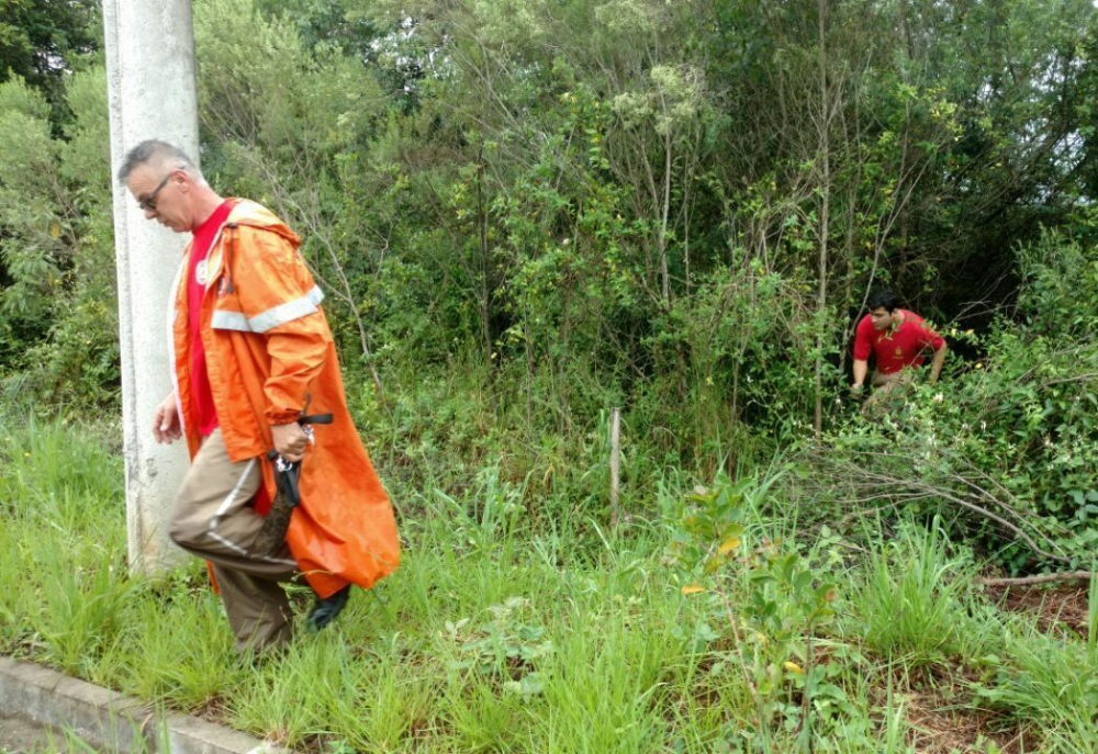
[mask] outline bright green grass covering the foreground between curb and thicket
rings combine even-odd
[[[1047,635],[988,604],[974,559],[934,526],[852,559],[837,534],[802,531],[770,476],[738,487],[743,543],[710,575],[671,547],[682,474],[652,485],[666,520],[617,532],[498,466],[461,492],[405,495],[419,514],[401,570],[356,592],[334,630],[253,666],[201,563],[128,575],[121,462],[100,441],[8,425],[0,463],[0,569],[19,574],[0,590],[0,651],[284,745],[784,754],[810,738],[816,752],[914,752],[929,732],[912,695],[934,687],[990,713],[988,733],[1028,731],[1029,751],[1098,747],[1093,635]],[[684,595],[695,581],[707,590]],[[809,621],[804,595],[825,583],[834,599]]]

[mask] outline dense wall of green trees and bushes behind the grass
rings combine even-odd
[[[68,54],[96,16],[8,12],[32,11],[0,15],[49,63],[0,83],[0,379],[90,412],[119,390],[103,70]],[[620,406],[629,510],[656,470],[807,449],[854,504],[957,498],[993,548],[1017,532],[973,506],[1005,505],[1046,555],[1093,544],[1087,0],[197,0],[194,23],[203,167],[305,237],[390,477],[491,466],[606,505]],[[955,348],[877,426],[844,386],[882,283]],[[866,451],[887,432],[895,458]]]

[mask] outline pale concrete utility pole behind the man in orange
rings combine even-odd
[[[190,0],[103,0],[111,164],[147,138],[198,159],[198,98]],[[183,558],[167,534],[187,470],[183,443],[153,439],[153,413],[171,391],[168,296],[187,237],[145,220],[114,187],[114,238],[122,339],[122,416],[130,565],[164,571]]]

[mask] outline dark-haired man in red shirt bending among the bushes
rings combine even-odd
[[[874,393],[866,403],[867,407],[897,386],[911,382],[915,374],[912,368],[921,365],[930,351],[933,352],[930,383],[938,382],[949,351],[945,339],[930,329],[918,314],[899,308],[899,299],[892,291],[874,291],[867,307],[870,313],[858,323],[854,335],[854,384],[851,392],[862,392],[871,353],[876,364],[871,378]]]

